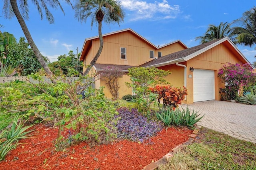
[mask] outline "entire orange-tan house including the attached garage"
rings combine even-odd
[[[156,67],[170,70],[166,77],[175,87],[186,86],[188,96],[184,103],[192,104],[207,100],[220,100],[219,88],[224,87],[218,78],[218,70],[226,63],[249,63],[244,55],[228,37],[217,39],[192,48],[181,41],[174,41],[157,47],[132,29],[124,29],[103,36],[104,47],[98,61],[92,68],[97,72],[111,65],[128,72],[132,66]],[[99,47],[98,37],[86,39],[80,56],[84,64],[89,64]],[[125,74],[119,81],[119,98],[132,94],[124,82],[129,77]],[[103,81],[96,81],[96,88],[105,86]],[[104,93],[111,98],[105,88]]]

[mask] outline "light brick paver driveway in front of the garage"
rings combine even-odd
[[[187,106],[205,114],[198,125],[256,143],[256,106],[217,100]]]

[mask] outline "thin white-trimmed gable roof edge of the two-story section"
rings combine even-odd
[[[114,32],[111,32],[111,33],[106,33],[106,34],[103,34],[102,37],[106,37],[108,35],[112,35],[112,34],[116,34],[116,33],[121,33],[121,32],[125,32],[125,31],[130,31],[132,34],[136,35],[137,37],[139,37],[140,39],[142,39],[143,41],[145,41],[145,43],[148,43],[149,45],[151,45],[152,47],[154,47],[155,49],[161,49],[162,47],[166,47],[168,45],[171,45],[171,44],[174,44],[174,43],[180,43],[183,47],[185,47],[186,49],[188,48],[184,43],[182,43],[180,40],[176,40],[176,41],[173,41],[173,42],[170,42],[168,44],[165,44],[165,45],[162,45],[162,46],[156,46],[154,45],[153,43],[151,43],[150,41],[148,41],[146,38],[142,37],[140,34],[136,33],[134,30],[130,29],[130,28],[127,28],[127,29],[122,29],[122,30],[119,30],[119,31],[114,31]],[[82,51],[81,51],[81,55],[80,55],[80,61],[82,61],[84,58],[82,58],[82,56],[84,56],[83,54],[86,53],[86,50],[87,48],[90,47],[90,42],[93,40],[93,39],[97,39],[99,38],[99,36],[95,36],[95,37],[90,37],[90,38],[86,38],[84,40],[84,45],[83,45],[83,48],[82,48]]]

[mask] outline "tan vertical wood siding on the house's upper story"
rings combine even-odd
[[[99,64],[138,66],[152,60],[149,57],[150,51],[154,51],[154,57],[158,57],[158,52],[161,52],[162,56],[164,56],[185,49],[185,47],[178,42],[156,49],[155,46],[130,31],[104,36],[103,40],[103,50],[96,62]],[[92,61],[100,45],[98,38],[90,41],[92,41],[92,46],[88,46],[89,48],[87,49],[86,65]],[[88,43],[90,43],[90,41],[88,41]],[[126,59],[121,59],[121,47],[126,48]]]

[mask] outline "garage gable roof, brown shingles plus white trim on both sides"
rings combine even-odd
[[[147,63],[141,64],[140,66],[142,67],[159,67],[159,66],[165,66],[165,65],[169,65],[169,64],[174,64],[176,62],[184,62],[184,61],[188,61],[194,57],[196,57],[197,55],[200,55],[202,53],[204,53],[205,51],[223,43],[223,42],[228,42],[233,48],[234,50],[248,63],[250,64],[250,62],[244,57],[244,55],[238,50],[238,48],[236,47],[236,45],[234,45],[234,43],[228,38],[228,37],[224,37],[221,39],[216,39],[213,41],[210,41],[208,43],[204,43],[201,45],[197,45],[195,47],[191,47],[189,49],[184,49],[182,51],[178,51],[175,53],[171,53],[169,55],[165,55],[163,57],[159,57],[158,59],[154,59],[152,61],[149,61]],[[251,64],[250,64],[251,65]]]

